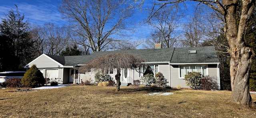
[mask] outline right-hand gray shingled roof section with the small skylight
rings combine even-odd
[[[188,53],[196,50],[196,53]],[[175,48],[170,63],[219,63],[214,46]]]

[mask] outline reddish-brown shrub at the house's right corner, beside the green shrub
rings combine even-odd
[[[217,89],[216,85],[212,82],[212,78],[206,75],[201,79],[201,87],[203,90]]]

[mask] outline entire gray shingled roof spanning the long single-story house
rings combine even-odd
[[[196,50],[196,53],[188,53],[189,50]],[[48,55],[64,66],[84,64],[96,57],[113,53],[131,53],[141,57],[146,62],[169,62],[170,63],[216,63],[218,57],[213,46],[206,47],[186,47],[186,48],[162,48],[162,49],[136,49],[122,51],[99,51],[92,55],[80,56],[56,56]]]

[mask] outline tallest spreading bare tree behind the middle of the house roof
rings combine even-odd
[[[127,30],[128,18],[133,14],[126,0],[62,0],[59,6],[63,18],[77,35],[83,37],[80,44],[95,51],[108,50],[116,41],[112,35]]]

